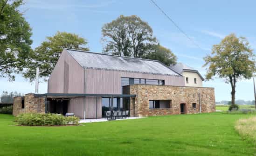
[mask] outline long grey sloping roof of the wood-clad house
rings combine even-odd
[[[65,49],[82,67],[182,76],[157,60]]]

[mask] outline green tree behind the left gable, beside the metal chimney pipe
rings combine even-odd
[[[86,47],[87,43],[86,39],[68,32],[57,32],[53,37],[47,37],[46,41],[35,48],[27,66],[28,69],[23,73],[23,76],[33,81],[36,67],[39,67],[40,78],[48,78],[64,48],[89,51],[89,48]]]

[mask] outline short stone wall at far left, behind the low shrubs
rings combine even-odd
[[[24,108],[21,108],[21,100],[24,98]],[[34,94],[26,94],[25,97],[14,97],[13,115],[21,113],[44,113],[45,99],[35,97]]]

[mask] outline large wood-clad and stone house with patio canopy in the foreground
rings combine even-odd
[[[131,117],[212,112],[214,88],[185,86],[182,74],[157,60],[64,49],[48,93],[14,99],[14,115],[72,112],[102,118],[118,110]]]

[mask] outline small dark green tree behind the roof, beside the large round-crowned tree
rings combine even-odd
[[[155,45],[154,50],[149,52],[145,58],[159,60],[167,66],[175,65],[177,61],[177,57],[173,52],[161,45]]]

